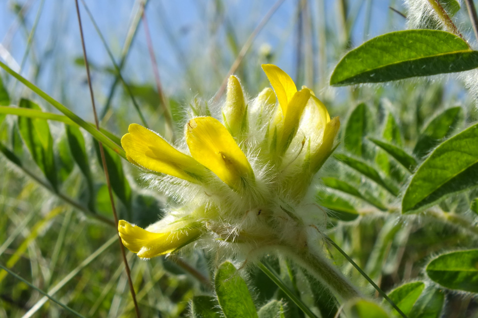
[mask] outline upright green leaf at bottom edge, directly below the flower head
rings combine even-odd
[[[217,300],[226,318],[258,318],[247,284],[230,262],[219,266],[214,286]]]

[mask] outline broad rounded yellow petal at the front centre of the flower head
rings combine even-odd
[[[186,142],[194,159],[230,187],[237,188],[246,180],[254,180],[246,155],[217,119],[191,119],[186,125]]]

